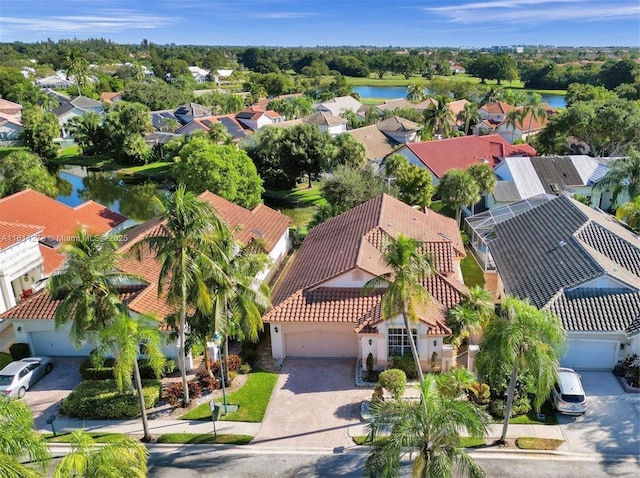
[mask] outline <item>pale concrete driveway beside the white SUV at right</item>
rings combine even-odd
[[[625,393],[611,372],[580,371],[585,415],[558,414],[563,451],[640,456],[640,395]]]

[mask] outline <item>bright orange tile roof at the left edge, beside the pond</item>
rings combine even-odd
[[[83,226],[91,234],[104,234],[127,219],[94,201],[70,207],[32,189],[0,199],[0,218],[6,222],[40,227],[43,237],[52,237],[61,243]],[[40,252],[44,258],[45,275],[62,266],[64,258],[57,247],[41,244]]]

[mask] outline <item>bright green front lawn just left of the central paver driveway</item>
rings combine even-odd
[[[232,422],[259,423],[264,418],[271,399],[278,374],[272,372],[252,372],[247,383],[237,391],[227,395],[227,403],[238,405],[238,411],[221,415],[220,420]],[[194,408],[181,417],[182,420],[211,420],[209,402]]]

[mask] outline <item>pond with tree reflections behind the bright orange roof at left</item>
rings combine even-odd
[[[165,194],[153,182],[124,181],[112,173],[74,169],[60,171],[59,182],[68,183],[60,189],[58,201],[78,206],[93,200],[123,216],[146,221],[159,214],[157,197]]]

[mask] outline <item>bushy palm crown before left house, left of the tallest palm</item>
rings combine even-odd
[[[71,321],[71,343],[80,348],[107,328],[114,317],[126,313],[118,284],[136,280],[118,271],[117,243],[108,236],[91,235],[86,229],[62,246],[64,268],[49,278],[47,288],[61,302],[55,313],[56,328]]]

